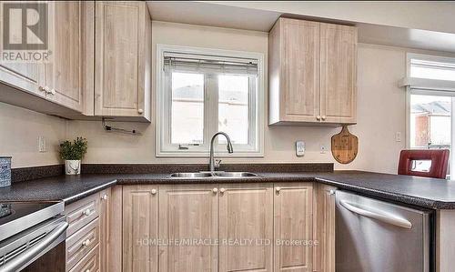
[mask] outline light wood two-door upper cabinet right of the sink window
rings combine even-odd
[[[357,28],[279,18],[268,35],[268,124],[355,124],[356,61]]]

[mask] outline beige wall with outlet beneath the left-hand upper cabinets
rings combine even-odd
[[[38,136],[45,137],[44,153],[38,152]],[[60,164],[58,143],[65,136],[66,120],[0,103],[0,156],[13,156],[12,167]]]

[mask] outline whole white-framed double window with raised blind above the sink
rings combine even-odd
[[[263,54],[157,45],[157,156],[263,156],[263,107]]]

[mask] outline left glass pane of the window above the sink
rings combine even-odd
[[[204,75],[172,73],[171,143],[204,142]]]

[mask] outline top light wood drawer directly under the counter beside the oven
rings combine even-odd
[[[65,208],[66,222],[69,227],[66,237],[72,236],[77,230],[86,226],[99,214],[99,194],[87,196]]]

